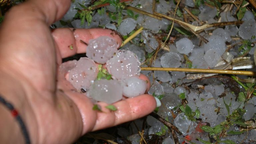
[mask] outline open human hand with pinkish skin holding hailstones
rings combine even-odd
[[[71,143],[86,132],[142,117],[156,106],[155,99],[144,94],[114,103],[115,112],[99,102],[104,112],[98,112],[86,96],[72,90],[57,69],[62,58],[86,52],[80,39],[88,42],[105,35],[119,44],[121,39],[103,29],[51,32],[49,25],[69,4],[70,0],[27,1],[11,9],[1,25],[0,91],[24,119],[32,143]]]

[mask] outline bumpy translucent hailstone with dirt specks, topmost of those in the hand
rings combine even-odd
[[[117,52],[118,43],[107,36],[92,39],[86,49],[86,56],[97,63],[105,64]]]

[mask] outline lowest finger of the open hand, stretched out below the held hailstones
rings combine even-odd
[[[106,103],[98,103],[103,112],[97,112],[97,121],[92,131],[115,126],[127,121],[141,118],[151,113],[156,107],[155,98],[149,94],[118,101],[113,105],[116,111],[105,108]]]

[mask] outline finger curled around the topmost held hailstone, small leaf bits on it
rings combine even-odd
[[[119,47],[122,44],[122,39],[119,35],[115,31],[109,29],[60,28],[53,30],[52,36],[62,58],[73,56],[77,53],[85,53],[89,40],[96,39],[101,36],[114,38],[119,44]]]

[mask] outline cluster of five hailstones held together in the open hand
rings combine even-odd
[[[92,39],[86,49],[88,58],[80,58],[76,67],[69,71],[68,80],[96,101],[108,104],[123,96],[135,97],[144,94],[147,82],[140,79],[140,62],[131,51],[118,50],[118,43],[111,37]],[[99,64],[106,68],[112,78],[97,80]]]

